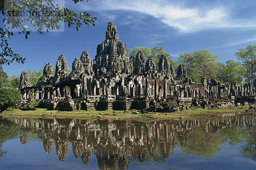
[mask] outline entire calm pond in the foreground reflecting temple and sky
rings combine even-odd
[[[255,118],[0,119],[0,170],[254,170]]]

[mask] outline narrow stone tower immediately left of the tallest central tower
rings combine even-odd
[[[93,60],[90,58],[89,52],[83,51],[80,60],[84,66],[84,73],[93,75]]]

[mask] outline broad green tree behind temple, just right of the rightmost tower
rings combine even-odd
[[[219,59],[218,56],[208,50],[200,50],[180,54],[178,63],[184,64],[188,76],[192,78],[192,81],[199,83],[202,77],[217,78],[220,66],[217,59]]]

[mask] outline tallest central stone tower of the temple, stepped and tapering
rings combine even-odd
[[[132,72],[128,50],[119,40],[114,23],[108,23],[106,40],[97,46],[93,70],[95,75],[129,75]]]

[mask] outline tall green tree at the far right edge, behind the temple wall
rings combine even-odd
[[[246,49],[239,49],[235,54],[243,66],[245,81],[253,86],[256,72],[256,45],[248,45]]]

